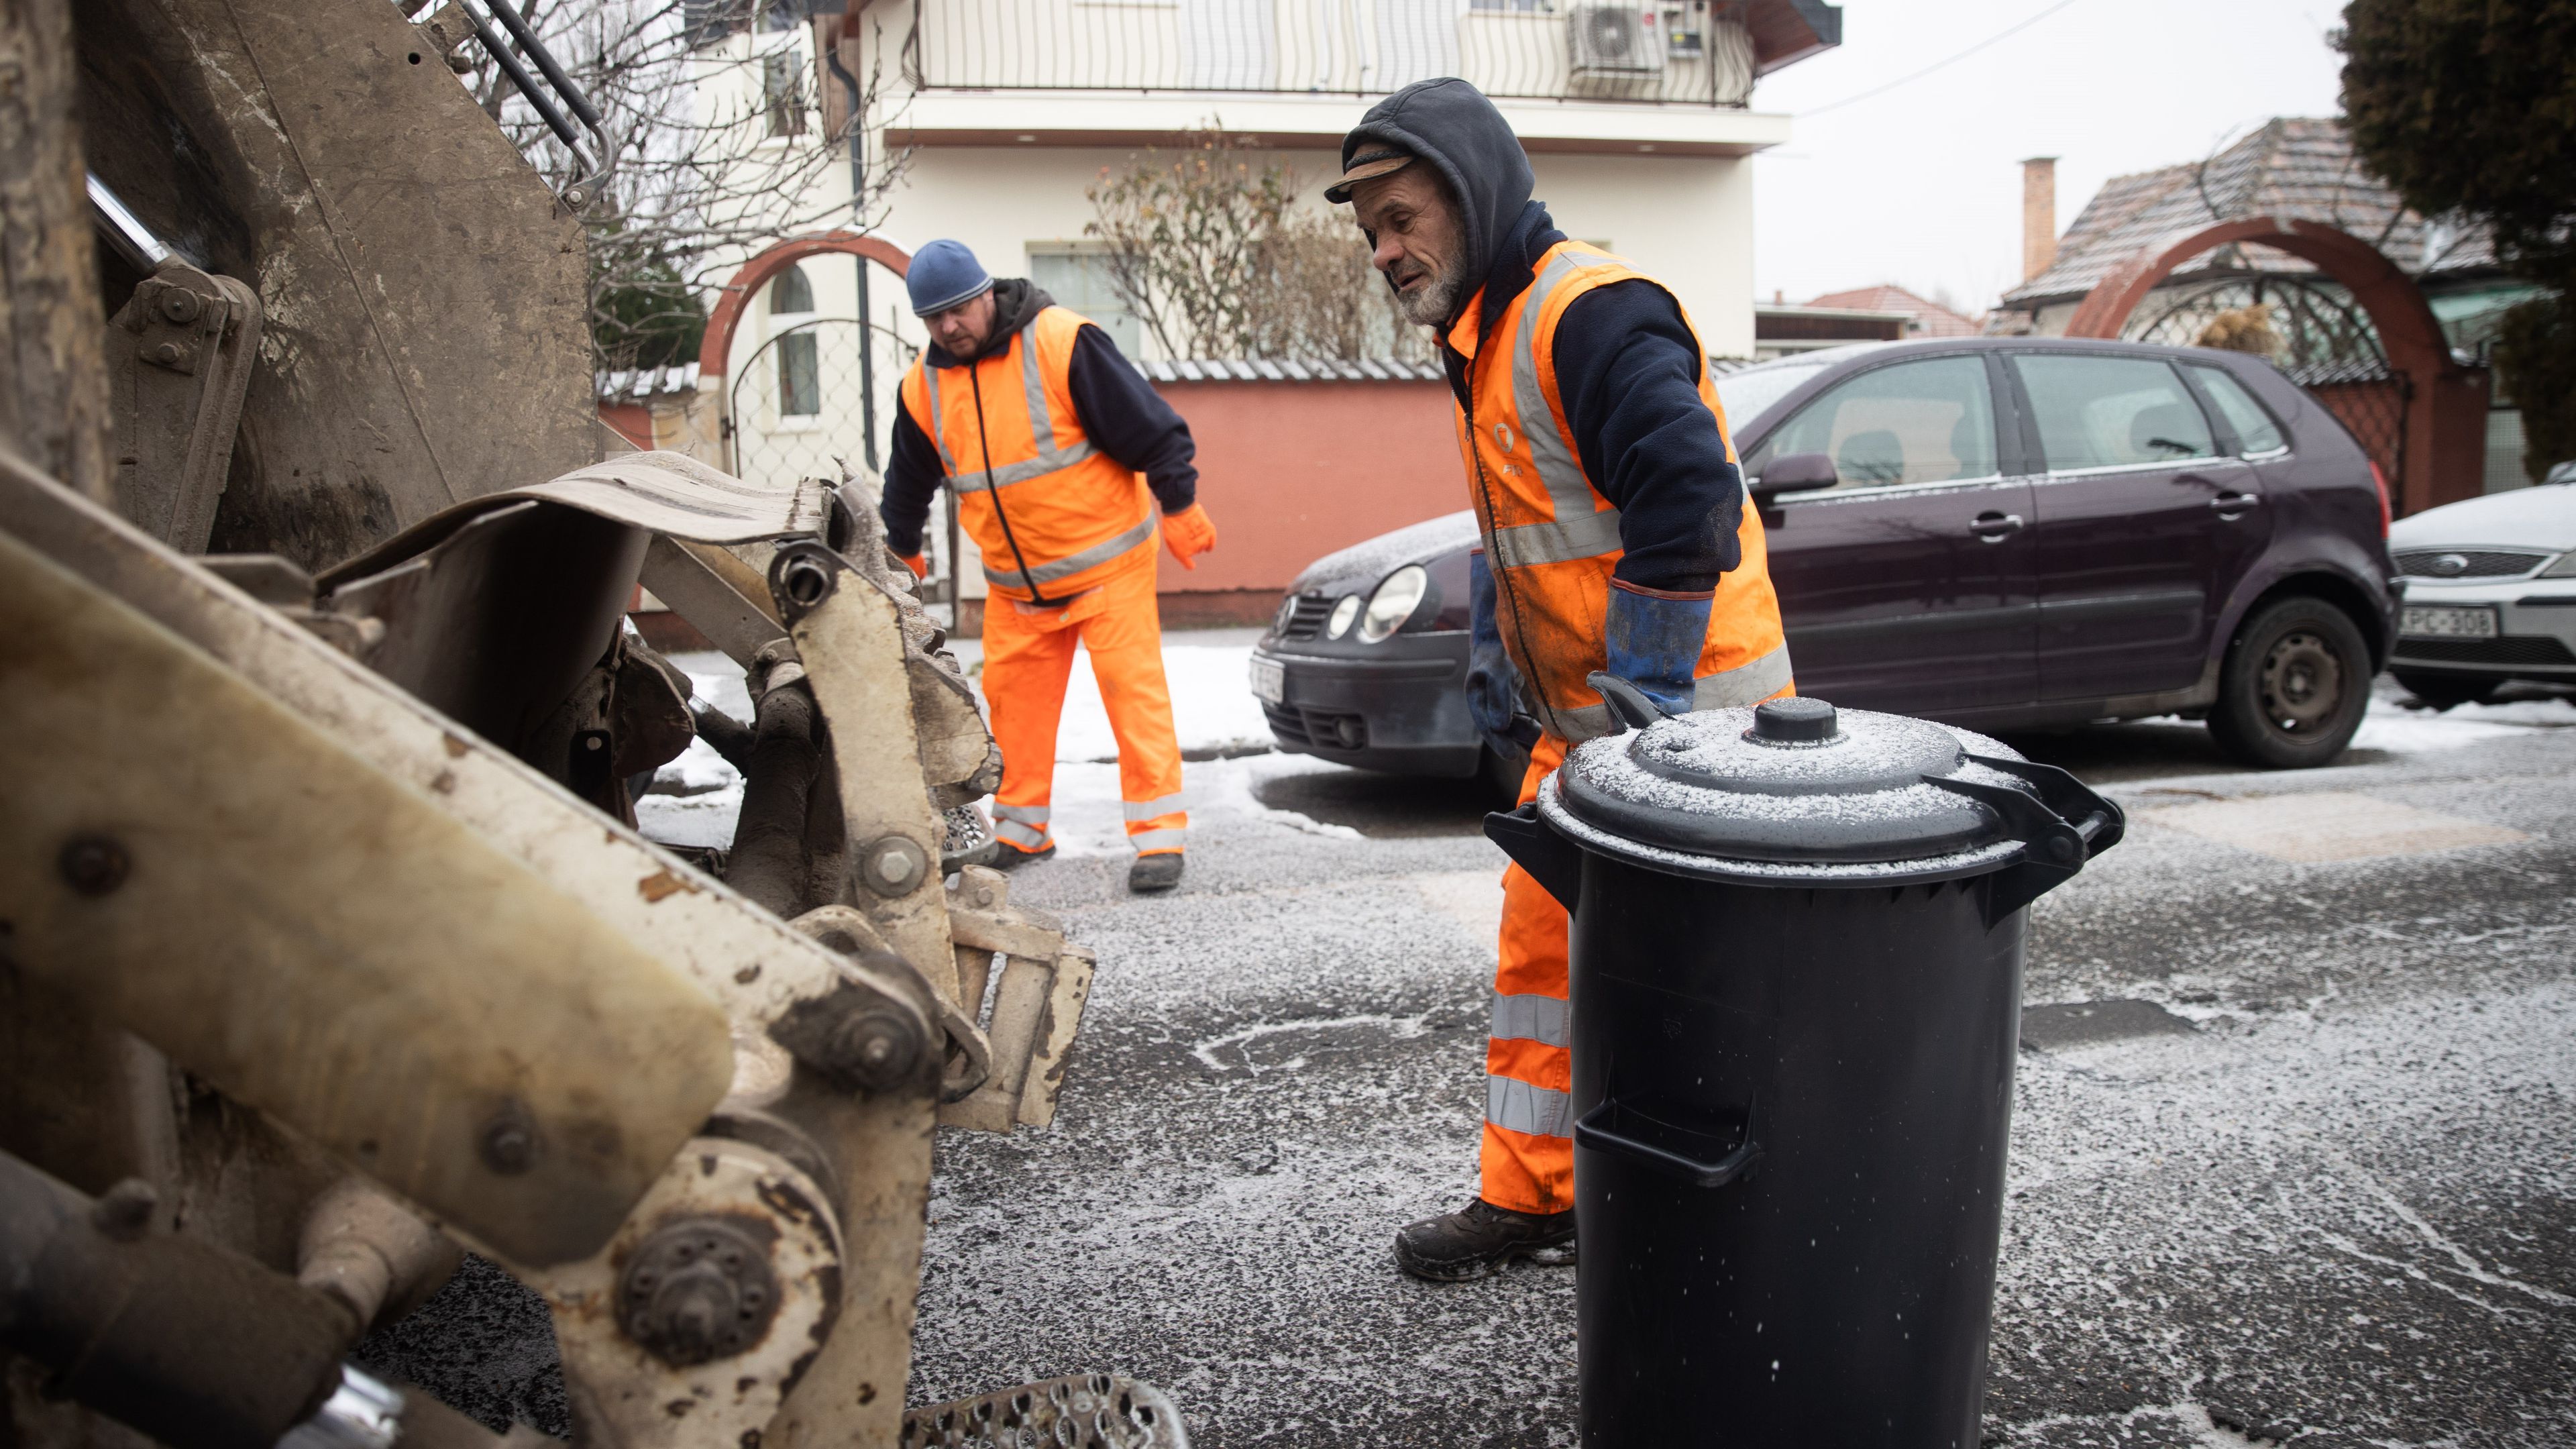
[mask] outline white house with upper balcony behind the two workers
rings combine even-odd
[[[1139,361],[1157,348],[1084,237],[1087,186],[1224,126],[1314,193],[1370,103],[1437,75],[1502,106],[1566,235],[1664,278],[1710,353],[1749,358],[1749,157],[1790,134],[1754,88],[1842,41],[1842,10],[1819,0],[783,0],[752,21],[724,15],[742,5],[698,15],[708,113],[775,134],[757,144],[811,144],[840,126],[845,75],[873,80],[863,160],[904,157],[876,232],[904,253],[956,237]],[[817,229],[814,217],[848,224],[848,165],[819,168],[804,193],[775,199],[781,235]],[[853,317],[876,325],[866,364]],[[737,469],[863,456],[860,410],[814,397],[848,400],[866,371],[884,438],[907,361],[894,338],[922,338],[902,284],[848,255],[809,258],[750,299],[724,384]]]

